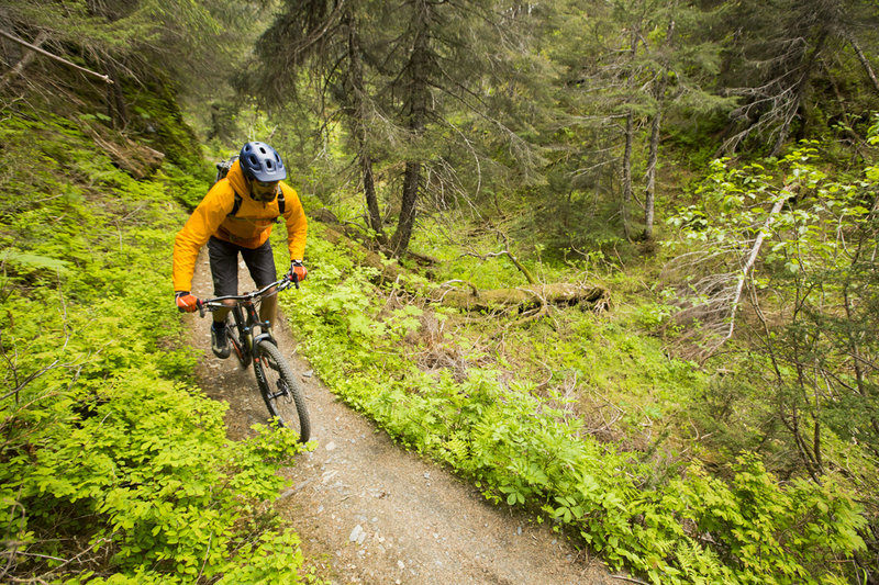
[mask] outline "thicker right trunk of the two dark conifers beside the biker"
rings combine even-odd
[[[414,31],[415,40],[412,46],[412,55],[409,59],[410,91],[409,91],[409,130],[412,139],[418,139],[424,133],[427,120],[427,108],[430,98],[429,86],[429,65],[430,65],[430,20],[431,5],[419,0],[414,3]],[[409,239],[412,237],[412,227],[415,223],[415,209],[418,203],[419,189],[421,188],[421,167],[420,160],[409,160],[405,164],[403,175],[403,193],[400,205],[400,220],[397,224],[397,232],[393,234],[391,247],[398,258],[405,254],[409,247]]]

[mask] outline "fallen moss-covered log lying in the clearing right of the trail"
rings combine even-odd
[[[472,290],[437,291],[435,293],[436,301],[446,306],[466,311],[497,311],[511,307],[526,311],[544,304],[597,307],[605,305],[608,299],[607,289],[567,282],[478,291],[477,294],[474,294]]]

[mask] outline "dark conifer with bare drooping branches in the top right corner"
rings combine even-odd
[[[721,91],[742,100],[732,113],[726,151],[754,138],[764,153],[777,156],[792,135],[804,138],[816,101],[831,105],[836,98],[844,99],[839,86],[847,83],[837,70],[846,78],[863,75],[864,87],[879,91],[861,46],[866,43],[875,54],[879,19],[875,3],[747,0],[731,5],[726,14],[715,33],[733,40],[724,56]],[[856,71],[860,67],[863,74]],[[828,86],[835,88],[835,97],[822,95]]]

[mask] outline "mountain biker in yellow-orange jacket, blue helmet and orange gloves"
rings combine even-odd
[[[238,160],[208,191],[174,241],[174,294],[181,312],[198,310],[199,300],[190,290],[196,260],[204,244],[215,296],[238,293],[238,254],[257,288],[275,282],[277,273],[268,238],[281,215],[290,251],[287,277],[303,280],[308,275],[302,266],[308,222],[297,192],[283,182],[286,178],[287,169],[272,147],[260,142],[242,147]],[[264,297],[259,318],[274,325],[277,306],[277,296]],[[225,322],[229,311],[214,311],[211,324],[211,349],[223,359],[230,355]]]

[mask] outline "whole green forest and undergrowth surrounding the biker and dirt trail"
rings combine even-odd
[[[312,216],[287,318],[402,445],[653,583],[879,578],[875,2],[0,16],[0,581],[307,578],[294,438],[223,445],[166,278],[248,139]]]

